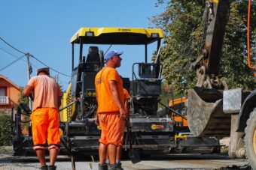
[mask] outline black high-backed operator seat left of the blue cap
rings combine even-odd
[[[98,46],[90,46],[89,52],[86,58],[86,67],[85,69],[89,72],[98,72],[101,69],[101,61],[99,57]]]

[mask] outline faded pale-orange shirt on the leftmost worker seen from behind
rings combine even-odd
[[[61,97],[62,93],[54,79],[46,75],[34,76],[29,80],[28,85],[33,88],[33,112],[44,107],[59,108],[58,97]]]

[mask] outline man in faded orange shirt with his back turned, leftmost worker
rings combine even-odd
[[[32,140],[41,169],[56,169],[55,161],[59,153],[59,106],[62,93],[59,85],[50,78],[48,67],[37,70],[37,76],[29,80],[23,89],[23,95],[28,97],[34,94],[34,103],[31,115]],[[46,142],[50,152],[50,166],[45,163]]]

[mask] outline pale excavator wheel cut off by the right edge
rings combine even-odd
[[[252,169],[256,169],[256,108],[251,112],[245,128],[246,157]]]

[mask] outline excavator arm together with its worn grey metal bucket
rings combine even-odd
[[[194,62],[197,70],[197,85],[187,93],[187,122],[195,136],[229,136],[229,114],[223,110],[223,90],[227,83],[218,80],[219,62],[222,55],[224,29],[227,23],[230,4],[227,0],[206,0],[203,15],[204,44],[202,52]],[[251,0],[248,1],[248,67],[250,65],[249,14]],[[236,95],[233,96],[235,98]],[[227,99],[226,99],[227,100]],[[242,101],[242,100],[241,100]]]

